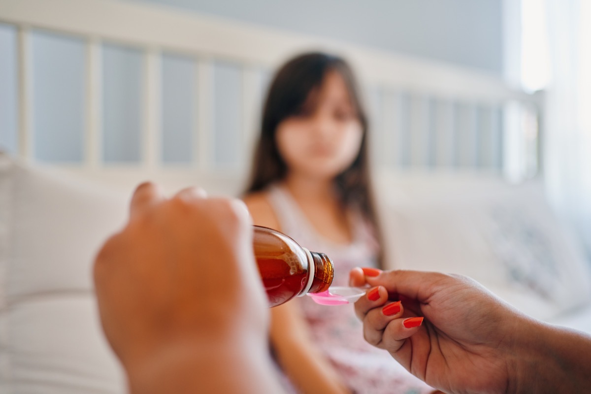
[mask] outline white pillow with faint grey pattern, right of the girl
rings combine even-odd
[[[390,266],[470,276],[543,320],[590,302],[589,262],[540,182],[382,174],[378,184]]]

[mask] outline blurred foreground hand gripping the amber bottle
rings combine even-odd
[[[168,199],[154,184],[139,185],[129,222],[96,257],[94,278],[103,329],[132,382],[162,374],[163,383],[170,377],[163,364],[178,372],[200,355],[205,370],[216,367],[216,357],[226,363],[223,376],[241,356],[266,357],[267,297],[239,200],[206,198],[196,188]],[[183,378],[191,373],[207,375],[193,370]]]

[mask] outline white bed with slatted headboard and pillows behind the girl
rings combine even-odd
[[[17,97],[0,154],[0,392],[125,391],[96,315],[94,253],[141,181],[238,195],[269,76],[310,49],[342,54],[361,77],[388,265],[473,276],[528,314],[591,333],[590,262],[544,198],[539,94],[449,64],[132,2],[0,0],[0,33],[14,57],[0,73],[14,74]],[[47,57],[62,44],[66,57]],[[66,109],[43,112],[54,96],[37,86],[57,80],[35,66],[43,61],[78,76]],[[63,127],[44,128],[54,121]],[[47,134],[76,143],[56,148]]]

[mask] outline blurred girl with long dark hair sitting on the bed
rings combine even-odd
[[[342,58],[303,54],[275,74],[244,201],[255,224],[330,256],[333,285],[348,285],[356,266],[381,267],[367,134],[358,88]],[[433,391],[366,343],[347,305],[304,297],[272,308],[271,341],[300,392]]]

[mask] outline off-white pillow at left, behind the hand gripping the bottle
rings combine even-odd
[[[126,392],[91,268],[127,201],[0,153],[0,392]]]

